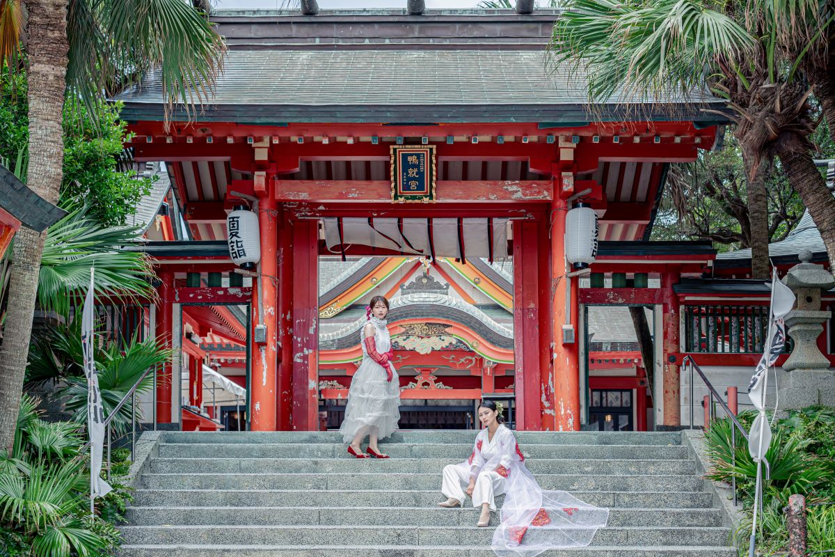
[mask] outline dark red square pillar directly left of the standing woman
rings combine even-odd
[[[292,428],[319,428],[319,223],[293,223],[293,405]]]

